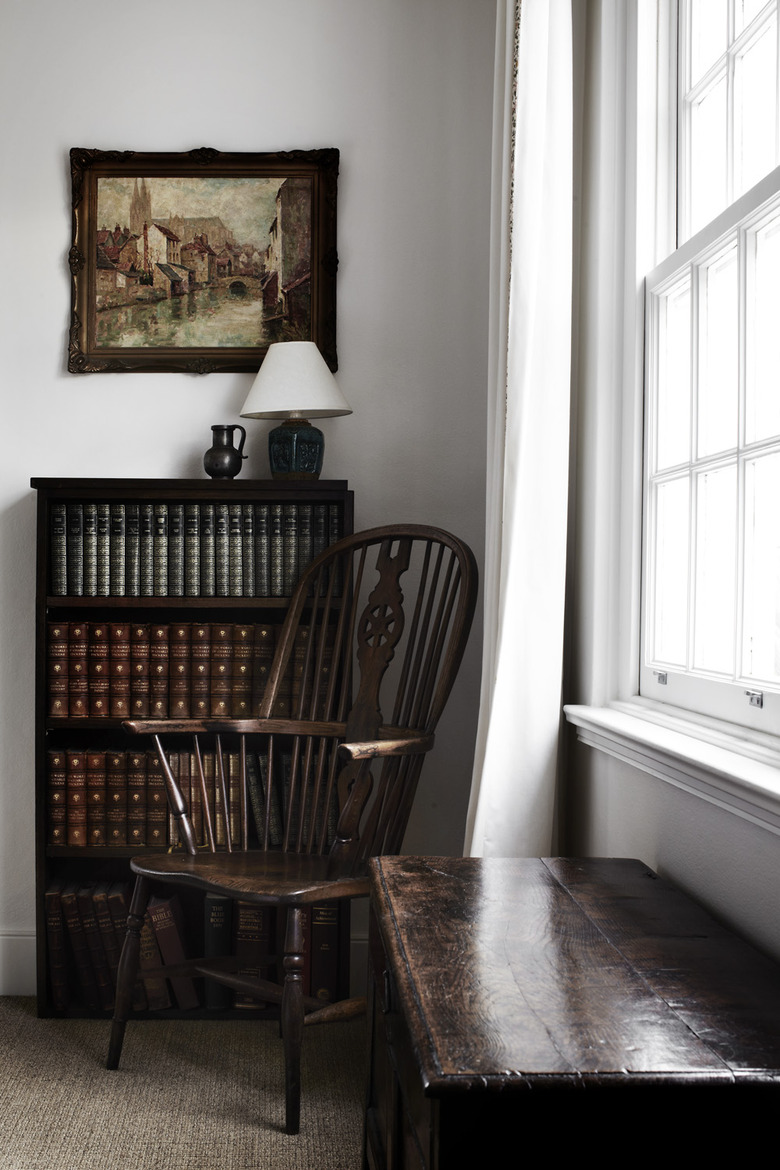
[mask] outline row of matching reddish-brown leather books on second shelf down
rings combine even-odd
[[[274,715],[299,693],[306,631]],[[54,718],[250,718],[258,714],[276,627],[234,622],[50,621],[47,714]]]

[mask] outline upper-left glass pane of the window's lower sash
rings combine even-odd
[[[690,459],[691,289],[686,278],[658,301],[656,468]]]

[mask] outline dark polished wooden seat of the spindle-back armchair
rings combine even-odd
[[[367,876],[339,876],[333,874],[331,859],[308,853],[141,853],[130,868],[172,886],[269,906],[308,906],[368,894]]]

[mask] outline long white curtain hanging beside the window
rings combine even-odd
[[[476,856],[537,856],[552,847],[568,486],[572,118],[572,0],[499,0],[485,649],[464,851]]]

